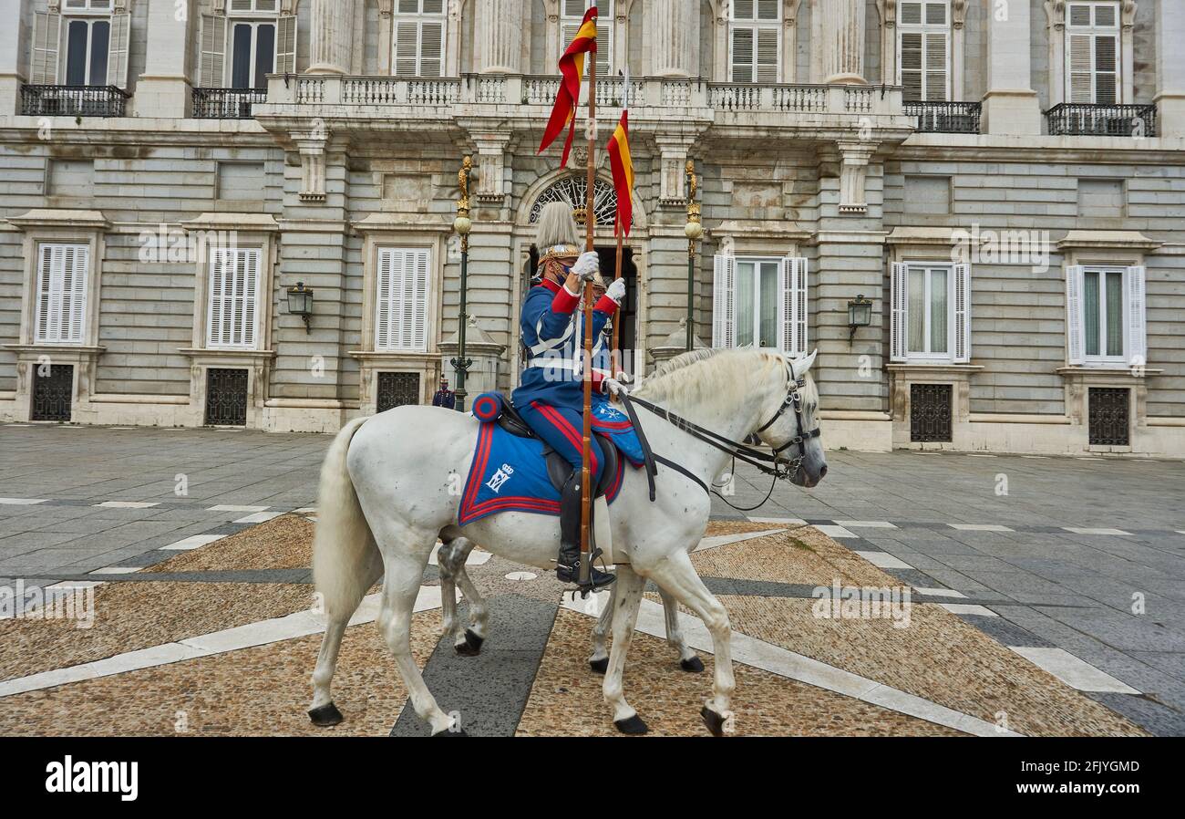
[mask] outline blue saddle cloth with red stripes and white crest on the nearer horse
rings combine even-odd
[[[461,526],[498,512],[559,514],[559,491],[547,476],[544,442],[502,429],[497,423],[501,409],[502,396],[498,392],[483,392],[473,402],[473,414],[482,423],[457,510]],[[621,491],[624,461],[628,459],[635,468],[642,465],[642,446],[626,414],[608,402],[592,405],[592,429],[624,455],[617,459],[617,472],[606,492],[606,499],[613,503]]]

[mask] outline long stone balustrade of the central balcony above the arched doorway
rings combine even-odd
[[[340,130],[423,130],[489,119],[510,127],[538,127],[556,98],[559,78],[530,75],[463,75],[444,78],[271,76],[255,116],[269,129],[307,129],[321,120]],[[597,82],[597,107],[616,117],[621,77]],[[904,115],[901,88],[888,85],[774,85],[709,83],[665,77],[630,83],[630,123],[661,123],[756,133],[813,132],[819,139],[852,139],[853,129],[893,132],[904,139],[916,120]],[[648,124],[651,123],[651,124]]]

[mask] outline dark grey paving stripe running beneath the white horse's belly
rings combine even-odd
[[[460,714],[461,728],[469,736],[513,736],[551,636],[557,604],[517,594],[488,602],[494,631],[481,653],[460,657],[450,640],[442,640],[424,666],[424,683],[446,714]],[[428,735],[428,724],[409,700],[391,736]]]

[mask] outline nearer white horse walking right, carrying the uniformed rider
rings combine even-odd
[[[636,395],[731,441],[757,433],[779,448],[814,429],[818,392],[807,376],[814,353],[790,359],[764,350],[711,350],[687,353],[685,360],[647,379]],[[799,411],[787,411],[792,395],[799,398]],[[696,574],[690,552],[711,511],[703,485],[723,472],[730,456],[648,411],[640,416],[654,453],[678,461],[700,482],[661,466],[656,498],[651,501],[642,471],[626,471],[610,507],[610,526],[614,551],[628,555],[629,563],[616,570],[613,650],[603,693],[619,730],[647,730],[626,700],[622,673],[642,590],[652,580],[699,616],[712,635],[716,673],[700,714],[719,735],[732,715],[731,627],[724,606]],[[378,627],[416,714],[434,736],[463,735],[457,721],[436,704],[411,655],[412,607],[436,539],[463,537],[500,557],[542,569],[555,568],[559,540],[559,522],[552,516],[504,512],[456,525],[457,476],[463,480],[468,474],[476,435],[472,416],[401,407],[351,421],[329,446],[321,467],[313,544],[313,577],[327,619],[313,672],[309,717],[315,724],[341,721],[329,693],[341,636],[366,589],[382,578]],[[789,454],[798,460],[794,484],[814,486],[826,475],[820,437],[806,437]]]

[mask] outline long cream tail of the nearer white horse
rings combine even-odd
[[[338,433],[321,465],[316,501],[316,535],[313,538],[313,583],[326,616],[348,619],[374,582],[382,556],[366,516],[358,504],[346,468],[350,441],[367,418],[354,418]]]

